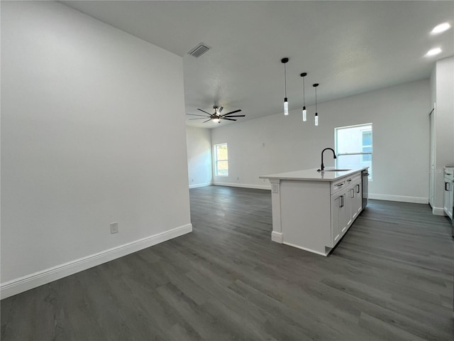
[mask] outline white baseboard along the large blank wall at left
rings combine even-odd
[[[56,281],[57,279],[76,274],[79,271],[90,269],[93,266],[126,256],[127,254],[132,254],[133,252],[140,251],[141,249],[152,247],[153,245],[182,236],[183,234],[187,234],[189,232],[192,232],[192,224],[176,227],[175,229],[170,229],[165,232],[154,234],[150,237],[138,239],[134,242],[98,252],[97,254],[75,259],[74,261],[69,261],[50,269],[38,271],[35,272],[35,274],[30,274],[13,279],[12,281],[8,281],[6,283],[1,283],[0,297],[1,299],[4,299],[9,296],[16,295],[17,293],[22,293],[23,291],[27,291],[38,286],[42,286],[43,284]]]

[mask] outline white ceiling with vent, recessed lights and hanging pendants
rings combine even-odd
[[[428,78],[454,55],[454,1],[61,1],[183,57],[187,114],[243,109],[245,119]],[[194,58],[198,43],[211,46]],[[440,55],[426,52],[441,47]],[[323,105],[323,104],[322,104]],[[319,112],[321,111],[319,107]],[[188,117],[194,118],[194,117]],[[234,124],[187,121],[212,128]]]

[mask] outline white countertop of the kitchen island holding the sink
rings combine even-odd
[[[293,171],[287,173],[277,173],[270,175],[260,175],[260,179],[270,180],[302,180],[302,181],[334,181],[345,176],[364,171],[368,167],[352,168],[349,171],[328,172],[333,167],[326,167],[325,171],[318,172],[318,168],[304,169],[303,171]]]

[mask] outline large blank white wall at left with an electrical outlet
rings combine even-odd
[[[189,232],[184,122],[179,56],[2,1],[2,296]]]

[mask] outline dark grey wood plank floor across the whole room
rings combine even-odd
[[[267,190],[190,190],[194,232],[1,301],[1,340],[454,340],[454,241],[370,200],[328,257],[271,242]]]

